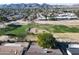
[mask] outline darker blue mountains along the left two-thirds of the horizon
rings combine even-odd
[[[12,8],[12,9],[23,9],[23,8],[49,8],[50,5],[48,4],[37,4],[37,3],[30,3],[30,4],[9,4],[9,5],[0,5],[0,8]]]

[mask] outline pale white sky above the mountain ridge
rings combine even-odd
[[[47,4],[76,4],[79,0],[0,0],[0,4],[11,3],[47,3]]]

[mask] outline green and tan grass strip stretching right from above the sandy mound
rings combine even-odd
[[[45,29],[49,32],[54,33],[79,33],[79,26],[77,27],[68,27],[65,25],[42,25],[42,24],[32,24],[32,27]]]

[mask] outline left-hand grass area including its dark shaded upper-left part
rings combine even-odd
[[[12,34],[17,37],[22,37],[27,34],[29,25],[21,25],[21,26],[7,26],[6,28],[0,29],[0,34],[5,35],[5,34]]]

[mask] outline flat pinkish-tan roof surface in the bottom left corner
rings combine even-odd
[[[0,55],[21,55],[23,47],[0,46]]]

